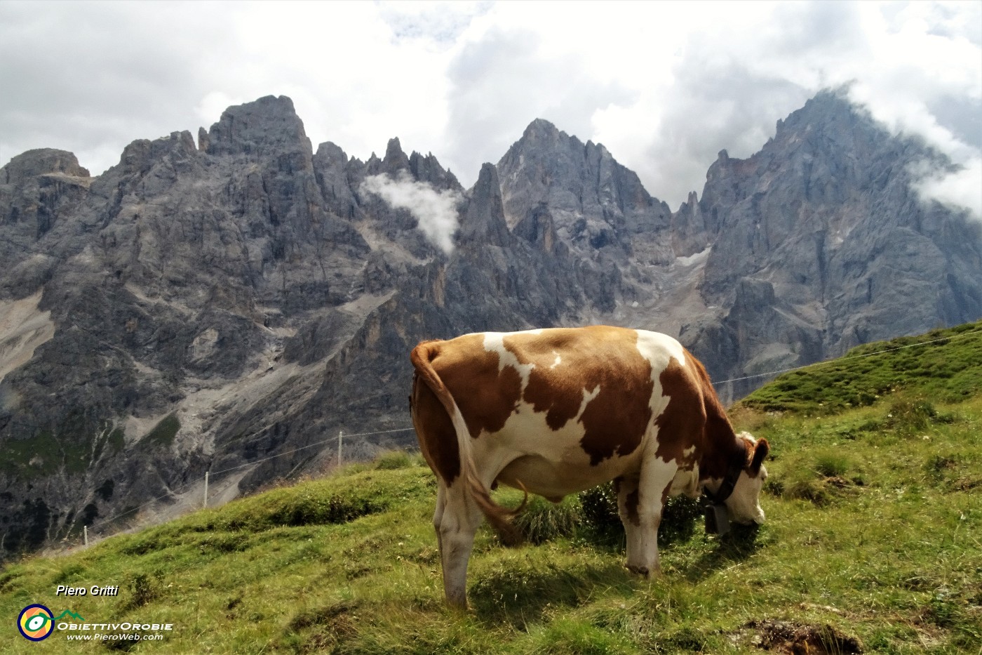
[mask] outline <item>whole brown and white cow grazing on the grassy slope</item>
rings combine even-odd
[[[518,510],[488,492],[498,483],[559,502],[614,480],[626,566],[644,576],[661,572],[658,524],[670,495],[705,491],[737,522],[764,520],[767,441],[735,434],[705,369],[665,334],[483,332],[423,341],[410,358],[412,423],[439,483],[433,525],[452,605],[466,607],[482,516],[514,536]]]

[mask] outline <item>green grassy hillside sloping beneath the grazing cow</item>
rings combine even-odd
[[[947,343],[815,367],[750,396],[733,413],[773,447],[768,522],[707,537],[677,504],[661,579],[623,568],[595,493],[534,503],[523,519],[531,543],[517,549],[482,528],[473,610],[449,611],[433,475],[392,454],[6,566],[0,650],[982,653],[982,394],[969,359],[982,335],[958,329]],[[70,598],[55,595],[59,584],[120,592]],[[56,630],[31,643],[15,624],[32,603],[90,624],[173,629],[156,641],[77,643]]]

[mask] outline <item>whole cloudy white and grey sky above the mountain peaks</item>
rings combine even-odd
[[[701,191],[819,89],[850,85],[964,168],[925,193],[982,216],[982,1],[0,2],[0,165],[197,134],[230,104],[293,98],[316,148],[398,136],[464,186],[541,117],[603,143],[654,196]]]

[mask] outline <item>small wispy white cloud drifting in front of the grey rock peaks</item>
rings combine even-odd
[[[464,200],[459,192],[437,191],[413,180],[405,170],[399,171],[395,180],[385,173],[366,177],[360,190],[375,194],[393,208],[409,209],[430,243],[448,255],[453,252],[459,227],[457,206]]]

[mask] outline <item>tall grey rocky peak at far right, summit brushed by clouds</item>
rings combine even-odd
[[[917,198],[910,167],[925,160],[940,157],[892,139],[831,91],[780,122],[750,158],[720,153],[702,200],[690,197],[677,214],[711,235],[702,295],[725,318],[683,335],[699,344],[694,352],[714,378],[802,365],[982,314],[979,223]],[[772,294],[740,295],[763,283]],[[769,336],[746,336],[753,316]],[[734,343],[731,356],[712,356],[719,346],[709,344],[722,342]],[[794,345],[778,352],[775,343]],[[760,382],[727,390],[738,397]]]

